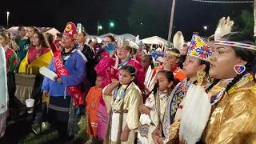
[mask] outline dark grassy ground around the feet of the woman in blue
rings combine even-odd
[[[75,136],[74,144],[83,144],[86,140],[89,139],[89,136],[86,134],[86,120],[84,117],[81,118],[79,122],[78,134]],[[34,130],[39,132],[39,126],[33,126]],[[42,124],[42,133],[28,134],[25,138],[22,138],[18,144],[56,144],[57,143],[57,131],[50,129],[46,126],[46,124]]]

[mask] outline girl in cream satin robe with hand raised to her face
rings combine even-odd
[[[134,84],[136,70],[126,65],[120,70],[119,81],[112,82],[103,89],[103,97],[113,95],[110,108],[110,121],[105,142],[134,143],[138,129],[139,106],[142,105],[142,92]]]

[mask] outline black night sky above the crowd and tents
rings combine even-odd
[[[171,3],[171,0],[8,0],[2,3],[0,25],[6,25],[6,12],[10,11],[9,24],[14,26],[52,26],[62,31],[66,22],[72,21],[76,24],[81,22],[87,33],[97,34],[99,20],[103,26],[100,34],[105,34],[109,32],[111,20],[115,23],[111,30],[114,34],[140,33],[140,38],[153,35],[167,38]],[[139,7],[136,12],[132,8],[134,5]],[[205,35],[202,26],[208,26],[207,35],[210,35],[222,16],[235,18],[242,10],[250,9],[252,4],[249,3],[176,0],[173,34],[181,30],[189,40],[194,31]],[[133,24],[129,22],[130,15],[136,16],[132,18]]]

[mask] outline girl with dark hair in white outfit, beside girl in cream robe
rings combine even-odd
[[[155,93],[155,89],[154,92],[150,94],[150,97],[146,99],[145,105],[139,107],[142,115],[140,117],[140,126],[138,128],[138,143],[154,143],[151,135],[156,126],[159,125],[159,122],[162,123],[163,114],[166,108],[166,100],[170,95],[171,86],[174,83],[174,74],[168,70],[161,70],[156,76],[156,81],[155,88],[157,88],[159,92]],[[161,108],[158,105],[159,102]]]

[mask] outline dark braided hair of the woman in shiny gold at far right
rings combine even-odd
[[[222,38],[226,38],[227,41],[231,41],[231,42],[241,42],[244,44],[249,44],[249,45],[253,45],[256,46],[254,43],[254,38],[250,37],[250,35],[248,34],[243,34],[240,32],[233,32],[230,34],[226,34],[224,36],[222,36]],[[232,86],[234,86],[235,83],[237,83],[243,75],[247,74],[247,73],[251,73],[253,70],[253,67],[256,64],[256,51],[255,50],[249,50],[249,49],[244,49],[244,48],[239,48],[236,46],[232,46],[234,53],[236,54],[236,56],[238,58],[241,58],[243,61],[246,61],[246,70],[245,72],[243,72],[242,74],[238,74],[236,77],[234,77],[234,79],[232,80],[232,82],[230,82],[227,86],[226,86],[226,92],[228,90],[230,90],[230,88]],[[206,90],[207,92],[215,85],[218,83],[219,80],[214,80],[214,84],[212,84],[208,90]]]

